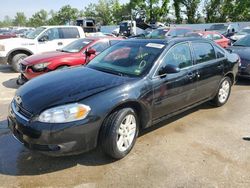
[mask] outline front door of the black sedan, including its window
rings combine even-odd
[[[179,73],[160,75],[166,64],[180,68]],[[158,119],[190,105],[195,93],[195,71],[188,42],[170,48],[153,77],[153,118]]]

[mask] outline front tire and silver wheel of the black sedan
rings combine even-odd
[[[132,150],[138,132],[139,121],[136,113],[132,108],[123,108],[104,121],[100,144],[107,155],[121,159]]]

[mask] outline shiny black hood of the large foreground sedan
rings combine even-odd
[[[87,67],[69,68],[27,82],[16,96],[21,97],[24,109],[38,115],[50,107],[74,103],[132,80]]]

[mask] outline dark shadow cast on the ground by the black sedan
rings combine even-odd
[[[212,107],[208,104],[196,107],[142,131],[140,136],[163,127],[166,124],[170,124],[197,110],[209,108]],[[0,174],[4,175],[40,175],[71,168],[78,164],[84,166],[100,166],[113,162],[115,162],[115,160],[107,157],[100,148],[76,156],[49,157],[26,149],[15,140],[10,133],[3,136],[0,135]]]

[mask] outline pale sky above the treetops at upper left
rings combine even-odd
[[[70,5],[79,10],[84,9],[89,3],[97,3],[98,0],[7,0],[1,2],[0,20],[5,16],[14,18],[16,12],[24,12],[31,17],[35,12],[44,9],[46,11],[58,11],[64,5]],[[120,3],[127,3],[129,0],[120,0]]]

